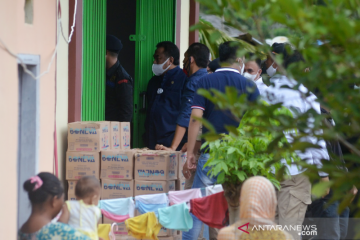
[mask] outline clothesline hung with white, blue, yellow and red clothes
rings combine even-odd
[[[197,188],[190,189],[189,192],[170,191],[168,195],[160,193],[136,196],[136,203],[132,197],[102,200],[104,202],[100,204],[100,208],[104,216],[113,221],[110,235],[114,239],[115,234],[119,234],[118,227],[124,224],[128,235],[137,238],[157,239],[160,228],[189,231],[193,227],[190,213],[210,227],[220,229],[228,226],[228,205],[223,191],[220,191],[223,190],[222,186],[217,185],[212,191],[206,188],[205,194],[200,190]],[[188,201],[191,205],[187,204]],[[140,215],[134,216],[135,209]],[[111,219],[112,217],[114,218]]]

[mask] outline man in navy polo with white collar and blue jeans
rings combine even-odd
[[[246,94],[249,101],[255,101],[259,94],[254,82],[247,80],[240,73],[243,71],[244,64],[240,56],[238,56],[239,45],[235,42],[225,42],[219,46],[219,59],[221,68],[217,69],[215,73],[208,74],[202,77],[197,85],[198,89],[216,89],[220,92],[225,92],[225,87],[235,87],[239,95]],[[216,109],[215,105],[199,94],[195,94],[188,131],[188,149],[187,149],[187,166],[188,169],[196,169],[194,183],[192,188],[203,188],[210,186],[216,182],[216,178],[209,178],[207,173],[209,167],[203,168],[209,158],[209,154],[202,150],[198,163],[196,165],[194,147],[196,137],[199,132],[200,122],[195,118],[205,118],[215,128],[217,133],[228,133],[225,126],[238,127],[239,122],[235,121],[229,112],[224,112]],[[203,126],[203,133],[207,133],[208,129]],[[186,178],[189,178],[190,173],[184,173]],[[193,228],[189,232],[183,232],[184,239],[197,239],[201,230],[201,221],[193,216]]]

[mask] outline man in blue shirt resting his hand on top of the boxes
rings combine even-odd
[[[191,105],[195,93],[195,88],[200,78],[207,75],[206,67],[209,62],[210,50],[204,44],[193,43],[184,54],[184,70],[190,75],[185,83],[184,94],[181,99],[181,111],[176,121],[176,131],[171,146],[157,145],[158,150],[175,151],[183,140],[189,126]],[[184,139],[185,135],[185,139]]]

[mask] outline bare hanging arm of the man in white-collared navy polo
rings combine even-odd
[[[189,131],[188,131],[188,149],[187,149],[187,161],[188,169],[196,169],[194,149],[196,145],[196,138],[200,130],[200,122],[195,118],[202,118],[204,112],[202,109],[193,108],[191,111]]]

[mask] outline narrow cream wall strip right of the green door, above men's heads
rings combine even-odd
[[[190,0],[181,0],[181,27],[180,27],[180,67],[182,68],[184,53],[189,48],[189,15]]]

